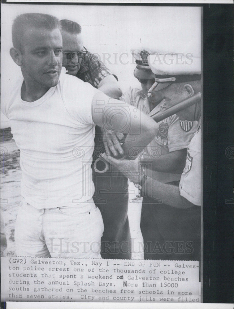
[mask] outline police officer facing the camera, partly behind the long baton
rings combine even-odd
[[[155,83],[154,73],[150,70],[147,60],[149,55],[157,55],[157,52],[150,49],[133,49],[131,52],[136,59],[134,76],[141,83],[141,89],[130,87],[121,99],[128,104],[135,105],[149,116],[165,110],[168,107],[167,101],[170,101],[170,92],[167,93],[166,90],[171,82],[164,79],[163,83]],[[165,92],[167,93],[166,99]],[[172,115],[159,122],[158,125],[155,138],[145,147],[141,157],[143,171],[146,176],[160,183],[179,186],[181,173],[186,162],[187,146],[197,129],[197,121],[189,123],[188,128],[185,128],[178,116]],[[158,203],[160,207],[163,207],[163,201],[158,200]],[[167,254],[158,252],[160,249],[156,248],[156,252],[153,252],[157,242],[162,240],[155,224],[154,212],[155,200],[152,203],[151,197],[144,197],[141,210],[141,232],[144,246],[146,246],[144,258],[166,259],[168,258]],[[160,254],[156,256],[155,253]]]

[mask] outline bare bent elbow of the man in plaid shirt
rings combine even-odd
[[[118,99],[122,95],[122,90],[114,75],[105,76],[98,84],[98,90],[102,91],[111,98]]]

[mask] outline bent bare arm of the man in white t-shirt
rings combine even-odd
[[[134,106],[109,98],[98,92],[92,101],[93,122],[103,130],[121,132],[127,135],[124,154],[136,156],[147,146],[158,131],[158,124]]]

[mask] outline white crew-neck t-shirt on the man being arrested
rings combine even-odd
[[[23,77],[2,108],[20,149],[22,196],[37,209],[89,200],[94,193],[91,104],[98,90],[62,71],[57,86],[26,102],[22,83]]]

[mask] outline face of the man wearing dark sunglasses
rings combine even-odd
[[[62,31],[63,36],[63,66],[67,69],[67,73],[70,75],[76,75],[80,69],[80,63],[82,57],[78,57],[76,54],[69,54],[69,52],[77,53],[83,50],[83,40],[81,33],[71,34],[66,31]],[[66,54],[68,53],[68,54]]]

